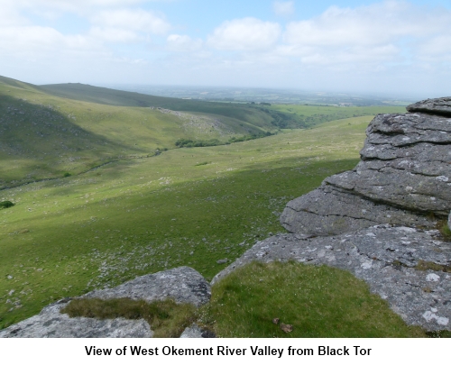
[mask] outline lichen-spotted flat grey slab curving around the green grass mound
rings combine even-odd
[[[451,274],[445,272],[451,266],[451,243],[440,241],[437,231],[379,225],[329,237],[279,234],[257,242],[212,284],[253,260],[297,260],[349,270],[407,324],[451,330]]]

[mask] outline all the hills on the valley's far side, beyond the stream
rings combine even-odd
[[[148,158],[182,139],[240,141],[393,108],[219,103],[0,77],[0,188]]]

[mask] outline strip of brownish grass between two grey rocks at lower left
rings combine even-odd
[[[177,304],[173,299],[146,303],[143,300],[117,298],[102,300],[97,298],[78,298],[61,309],[70,317],[89,317],[98,319],[143,318],[151,325],[153,337],[172,338],[180,334],[196,321],[196,307]]]

